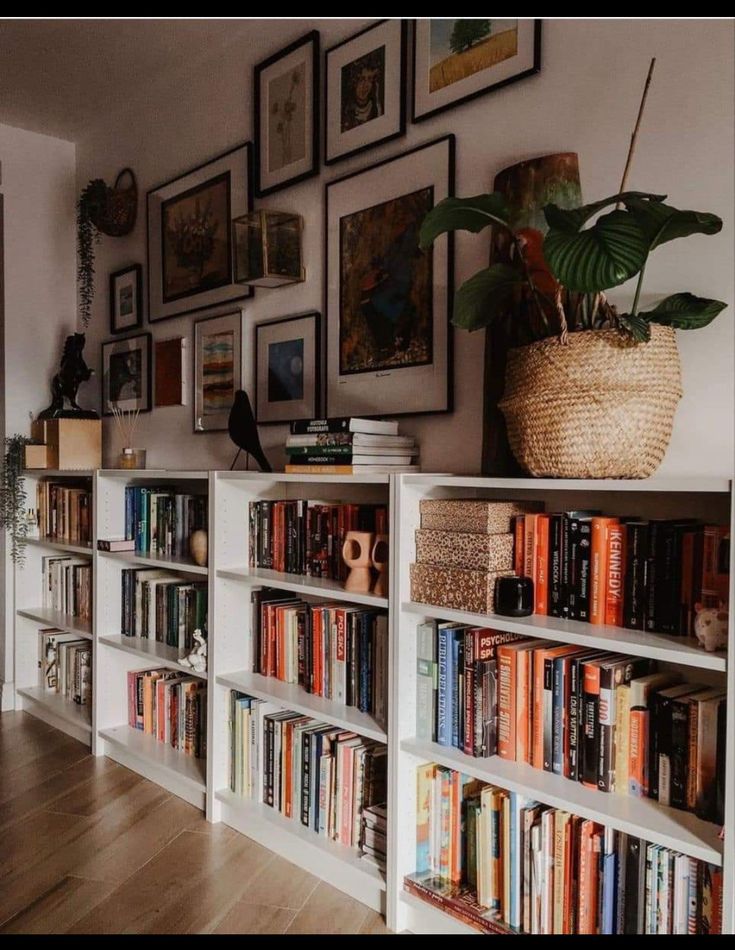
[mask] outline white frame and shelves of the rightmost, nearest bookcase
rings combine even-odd
[[[473,758],[452,747],[416,739],[416,627],[440,619],[492,627],[497,630],[569,642],[580,646],[615,649],[659,661],[662,668],[677,669],[695,682],[727,684],[735,688],[727,653],[706,653],[686,639],[617,627],[598,627],[558,618],[531,616],[508,618],[469,613],[412,601],[409,565],[415,562],[414,531],[419,527],[419,502],[424,498],[525,499],[545,502],[547,510],[600,508],[605,514],[640,514],[647,517],[688,516],[731,523],[732,487],[726,479],[652,478],[642,481],[592,481],[550,479],[492,479],[399,475],[395,477],[392,513],[394,541],[391,550],[391,600],[393,610],[394,665],[392,725],[389,754],[392,781],[388,803],[389,880],[388,925],[393,930],[416,933],[458,934],[472,932],[436,904],[407,894],[402,882],[415,870],[416,768],[425,762],[462,771],[489,784],[516,791],[552,807],[722,865],[724,869],[725,932],[733,930],[733,871],[735,834],[724,838],[720,827],[695,815],[659,805],[650,799],[606,794],[588,789],[561,776],[493,756]],[[731,553],[732,558],[732,553]],[[731,565],[731,577],[733,576]],[[731,602],[732,593],[731,593]],[[731,617],[730,655],[735,651]],[[735,745],[733,703],[728,703],[727,774],[734,774]],[[735,827],[732,788],[727,788],[725,827]]]

